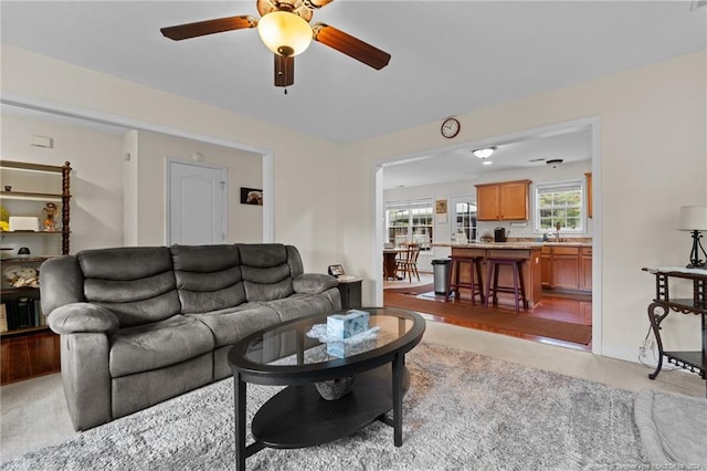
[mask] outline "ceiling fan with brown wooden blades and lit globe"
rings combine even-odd
[[[376,70],[390,61],[390,54],[341,30],[324,23],[309,25],[314,10],[334,0],[256,0],[260,21],[250,15],[219,18],[162,28],[166,38],[181,41],[225,31],[257,28],[257,32],[275,54],[275,86],[295,83],[295,55],[304,52],[312,40],[336,49]],[[286,91],[285,91],[286,92]]]

